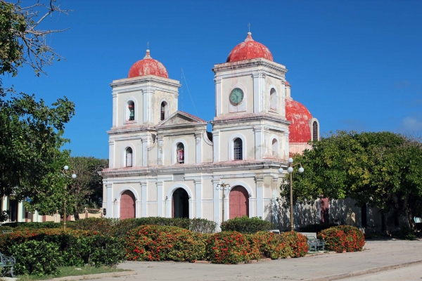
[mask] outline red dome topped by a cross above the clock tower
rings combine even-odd
[[[265,58],[273,61],[269,49],[261,43],[252,39],[252,33],[248,32],[248,37],[241,44],[234,47],[227,57],[227,63],[238,60],[250,60],[252,58]]]

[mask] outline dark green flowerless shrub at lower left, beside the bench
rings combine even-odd
[[[15,257],[15,273],[26,275],[58,274],[62,257],[58,245],[45,241],[25,241],[13,244],[11,251]]]

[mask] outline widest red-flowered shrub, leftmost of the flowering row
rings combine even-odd
[[[124,245],[129,261],[195,262],[205,259],[202,235],[174,226],[140,226],[129,232]]]

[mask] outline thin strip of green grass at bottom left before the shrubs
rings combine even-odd
[[[76,268],[80,268],[77,270]],[[126,269],[120,268],[108,268],[106,266],[102,266],[96,268],[94,266],[61,266],[59,267],[60,273],[58,275],[44,275],[44,276],[36,276],[36,275],[18,275],[19,280],[22,281],[29,281],[29,280],[49,280],[58,277],[67,277],[67,276],[78,276],[78,275],[88,275],[88,274],[97,274],[97,273],[112,273],[112,272],[120,272],[120,271],[127,271]]]

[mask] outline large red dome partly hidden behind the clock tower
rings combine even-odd
[[[305,105],[286,99],[286,119],[291,122],[288,126],[290,143],[307,143],[311,140],[309,120],[312,119],[312,115]]]

